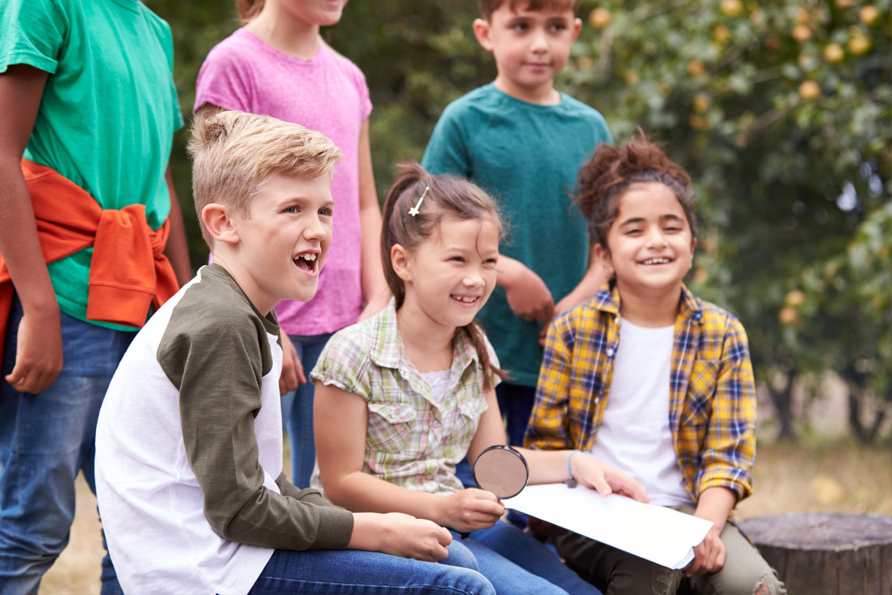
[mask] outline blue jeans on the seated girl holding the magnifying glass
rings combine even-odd
[[[453,549],[458,549],[455,544],[465,546],[497,593],[600,594],[538,540],[513,524],[500,521],[489,529],[471,533],[465,540],[457,532],[450,532],[450,557]]]

